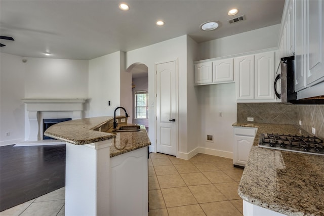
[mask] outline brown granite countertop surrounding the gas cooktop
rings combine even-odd
[[[286,215],[324,215],[324,156],[258,147],[261,133],[309,135],[297,125],[234,123],[258,131],[238,195]]]

